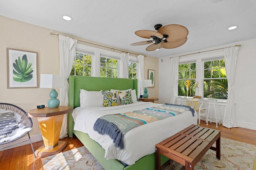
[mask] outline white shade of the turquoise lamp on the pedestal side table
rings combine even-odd
[[[40,88],[64,87],[64,76],[54,74],[40,75]]]

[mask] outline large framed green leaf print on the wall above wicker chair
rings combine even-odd
[[[7,48],[7,88],[38,88],[38,52]]]

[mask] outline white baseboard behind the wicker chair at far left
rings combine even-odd
[[[34,134],[34,135],[30,135],[30,139],[31,139],[32,143],[34,143],[34,142],[43,140],[43,137],[42,137],[42,134]],[[16,148],[16,147],[23,146],[26,144],[30,144],[29,140],[28,141],[26,141],[26,140],[28,140],[28,134],[26,134],[22,138],[15,140],[11,143],[0,145],[0,148],[3,148],[3,149],[0,149],[0,151],[10,149],[10,148]],[[20,143],[20,142],[22,142],[22,143]],[[5,148],[5,147],[7,147],[7,148]]]

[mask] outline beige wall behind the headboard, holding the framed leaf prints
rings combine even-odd
[[[37,105],[47,106],[50,89],[7,89],[6,48],[38,52],[38,78],[40,78],[40,74],[59,74],[60,65],[58,37],[50,35],[50,32],[54,31],[0,16],[0,103],[12,103],[21,107],[25,111],[34,109]],[[69,36],[67,34],[62,35]],[[148,69],[153,69],[156,71],[156,85],[155,87],[148,88],[148,93],[150,96],[158,97],[157,58],[144,58],[145,78],[148,77]],[[37,119],[32,118],[32,121],[33,129],[30,132],[30,135],[40,134]]]

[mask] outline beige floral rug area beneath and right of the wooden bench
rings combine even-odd
[[[227,138],[221,138],[221,158],[208,150],[194,166],[195,170],[256,170],[256,146]],[[180,170],[181,164],[168,160],[161,170]]]

